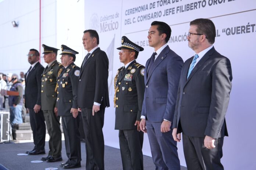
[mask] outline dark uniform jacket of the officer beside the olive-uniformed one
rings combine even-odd
[[[77,85],[80,68],[71,63],[58,76],[57,80],[57,106],[58,116],[72,116],[71,108],[78,108]]]

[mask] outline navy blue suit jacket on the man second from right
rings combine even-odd
[[[163,119],[173,122],[183,60],[167,46],[147,73],[149,63],[150,59],[145,67],[146,88],[141,115],[151,122],[162,122]]]

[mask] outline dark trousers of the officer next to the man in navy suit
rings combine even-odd
[[[143,170],[143,134],[137,129],[119,130],[123,170]]]

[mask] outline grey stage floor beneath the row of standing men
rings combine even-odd
[[[45,144],[46,152],[49,151],[48,142]],[[67,156],[65,153],[65,144],[62,143],[62,158],[65,162]],[[58,169],[63,169],[59,167],[62,162],[54,163],[31,163],[32,160],[40,160],[41,157],[45,155],[28,155],[28,156],[17,156],[19,153],[25,153],[25,151],[31,150],[33,148],[33,143],[20,143],[20,144],[0,144],[0,164],[5,166],[9,170],[44,170],[49,167],[57,167]],[[82,162],[81,168],[75,170],[85,170],[85,144],[81,143],[82,149]],[[105,146],[105,170],[122,170],[122,162],[120,150],[112,147]],[[153,164],[152,158],[149,156],[143,157],[144,169],[154,170],[155,166]],[[181,167],[181,170],[186,170],[185,167]]]

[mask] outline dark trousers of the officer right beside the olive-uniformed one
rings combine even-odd
[[[65,137],[65,147],[68,157],[68,163],[77,165],[81,162],[81,142],[79,134],[79,119],[81,114],[78,114],[77,118],[71,116],[61,116],[62,127]]]

